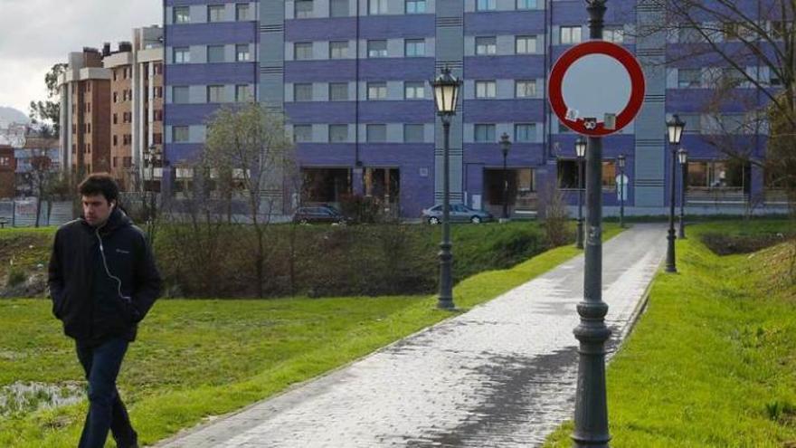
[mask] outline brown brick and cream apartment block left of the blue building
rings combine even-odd
[[[62,166],[107,171],[132,189],[143,181],[147,149],[163,142],[163,30],[133,31],[112,52],[85,48],[69,56],[62,75]]]

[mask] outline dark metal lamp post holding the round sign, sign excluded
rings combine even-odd
[[[589,36],[602,40],[606,0],[586,0]],[[577,310],[581,322],[574,329],[578,339],[578,387],[575,396],[573,446],[607,447],[608,403],[605,391],[605,326],[608,304],[602,301],[602,138],[589,137],[586,152],[586,243],[583,269],[583,301]]]

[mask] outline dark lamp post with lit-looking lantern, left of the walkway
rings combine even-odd
[[[437,115],[442,120],[444,146],[442,156],[442,242],[440,243],[440,297],[437,308],[453,310],[453,287],[450,277],[450,265],[453,254],[450,253],[450,119],[456,115],[459,101],[461,81],[450,75],[450,69],[442,69],[440,76],[431,81],[434,88],[434,105]]]

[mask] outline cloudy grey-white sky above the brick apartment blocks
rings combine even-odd
[[[28,114],[46,100],[44,75],[69,52],[132,41],[133,28],[162,24],[162,0],[0,0],[0,106]]]

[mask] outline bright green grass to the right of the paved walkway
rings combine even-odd
[[[700,236],[790,232],[786,221],[699,224],[608,368],[614,447],[796,446],[791,243],[717,256]],[[569,447],[572,424],[547,447]]]

